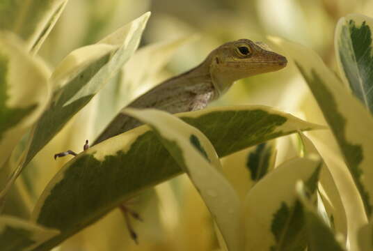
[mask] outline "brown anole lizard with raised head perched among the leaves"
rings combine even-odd
[[[280,70],[286,63],[285,56],[272,52],[264,43],[235,40],[217,47],[199,66],[162,82],[127,107],[152,107],[172,114],[203,109],[236,80]],[[120,112],[93,144],[139,125],[136,119]]]

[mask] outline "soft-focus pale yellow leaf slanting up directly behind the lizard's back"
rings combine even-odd
[[[120,109],[127,104],[128,98],[134,97],[135,94],[131,93],[136,92],[136,88],[141,88],[143,84],[150,84],[151,79],[167,63],[171,54],[189,40],[190,37],[183,37],[147,45],[137,50],[122,67],[120,73],[111,78],[103,89],[90,100],[88,105],[70,119],[69,123],[58,132],[54,139],[33,158],[32,166],[24,169],[20,176],[28,184],[28,190],[33,197],[36,197],[35,199],[51,177],[68,160],[68,158],[63,158],[55,161],[53,155],[66,149],[76,152],[81,151],[82,142],[84,143],[86,139],[95,139],[113,119],[113,116],[118,114]],[[149,64],[149,70],[134,71],[134,68],[145,66],[147,63]],[[123,68],[127,69],[127,67],[132,70],[126,70],[127,73],[123,74]],[[137,77],[134,77],[134,79],[137,79],[136,83],[127,81],[127,77],[129,77],[127,75],[136,75]],[[132,84],[132,88],[126,89],[127,84]],[[45,169],[45,165],[48,166],[47,169]]]

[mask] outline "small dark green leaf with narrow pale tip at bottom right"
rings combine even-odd
[[[317,215],[312,201],[308,199],[307,192],[302,182],[296,184],[301,206],[303,207],[306,236],[308,240],[308,250],[310,251],[343,251],[341,243],[335,238],[335,234],[328,227],[322,218]]]

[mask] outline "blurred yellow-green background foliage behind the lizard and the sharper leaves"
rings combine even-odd
[[[267,36],[287,38],[312,47],[335,70],[333,36],[338,19],[347,13],[373,16],[373,1],[74,0],[69,1],[39,54],[54,68],[72,50],[97,42],[148,10],[152,16],[141,47],[198,34],[198,38],[180,47],[167,66],[152,77],[155,83],[196,66],[215,47],[239,38],[263,41],[276,52],[281,50],[269,43]],[[323,120],[312,94],[291,62],[278,73],[237,82],[212,105],[242,104],[269,105],[315,123]],[[27,208],[31,210],[47,182],[68,161],[68,158],[55,161],[54,153],[65,149],[81,151],[84,140],[89,138],[86,126],[94,123],[87,114],[88,107],[25,169],[17,181],[19,191],[24,193],[23,205],[16,207],[26,209],[8,213],[26,218]],[[277,163],[297,154],[299,142],[295,137],[281,138],[276,143]],[[17,205],[17,201],[14,203]],[[143,218],[143,222],[132,222],[138,233],[138,245],[129,238],[122,213],[116,209],[56,250],[219,249],[207,208],[184,175],[144,192],[130,207]]]

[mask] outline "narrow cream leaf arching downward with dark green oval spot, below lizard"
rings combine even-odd
[[[128,108],[125,113],[150,125],[200,192],[228,250],[242,250],[240,201],[232,185],[219,172],[218,155],[207,137],[175,116],[156,109]]]

